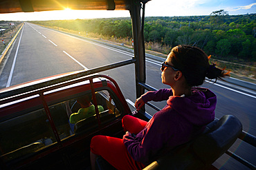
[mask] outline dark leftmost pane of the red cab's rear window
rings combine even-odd
[[[44,109],[3,121],[0,129],[1,157],[4,161],[35,153],[56,142]]]

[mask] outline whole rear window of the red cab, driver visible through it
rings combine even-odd
[[[89,133],[98,129],[99,123],[104,126],[121,115],[122,107],[116,105],[115,95],[101,90],[95,96],[100,121],[91,91],[48,106],[61,140]],[[57,141],[44,109],[5,120],[0,123],[0,129],[0,153],[4,161],[35,153]]]

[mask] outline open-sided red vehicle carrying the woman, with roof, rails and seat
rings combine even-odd
[[[1,169],[89,169],[93,136],[102,134],[121,138],[124,134],[121,120],[127,114],[143,120],[151,118],[145,109],[131,113],[116,81],[109,76],[95,74],[135,63],[137,98],[144,94],[145,89],[155,90],[145,84],[144,10],[141,19],[140,6],[144,9],[147,0],[55,2],[3,0],[0,13],[62,10],[62,6],[76,10],[129,10],[133,23],[134,58],[1,89]],[[68,123],[69,115],[80,109],[77,98],[88,94],[93,97],[91,103],[102,105],[104,111],[100,112],[95,107],[93,116],[71,125]],[[202,136],[176,147],[145,169],[216,169],[212,162],[225,153],[238,137],[246,137],[244,140],[255,147],[255,142],[251,142],[255,137],[242,132],[237,118],[223,116],[210,123]],[[255,168],[250,162],[239,161]],[[109,168],[104,160],[99,162],[103,162],[98,164],[99,169]]]

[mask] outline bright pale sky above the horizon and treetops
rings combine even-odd
[[[256,0],[152,0],[146,4],[145,17],[209,15],[226,10],[228,14],[256,13]],[[0,14],[0,21],[38,21],[55,19],[92,19],[130,17],[127,10],[63,10]]]

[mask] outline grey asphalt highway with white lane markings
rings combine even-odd
[[[0,75],[0,88],[17,85],[37,78],[53,76],[77,70],[88,70],[118,61],[131,59],[133,54],[93,41],[57,32],[39,25],[26,23],[4,63]],[[157,89],[166,88],[161,83],[161,61],[146,59],[147,82]],[[136,100],[134,65],[127,65],[102,72],[114,78],[128,103]],[[210,88],[217,94],[216,117],[232,114],[239,118],[244,131],[256,136],[256,92],[241,89],[228,83],[205,82],[202,87]],[[166,102],[154,103],[163,108]],[[134,107],[131,106],[134,110]],[[146,107],[149,114],[156,111]],[[242,158],[256,164],[256,151],[237,140],[230,149]],[[225,163],[226,162],[226,163]],[[222,156],[214,163],[221,169],[248,169],[232,158]]]

